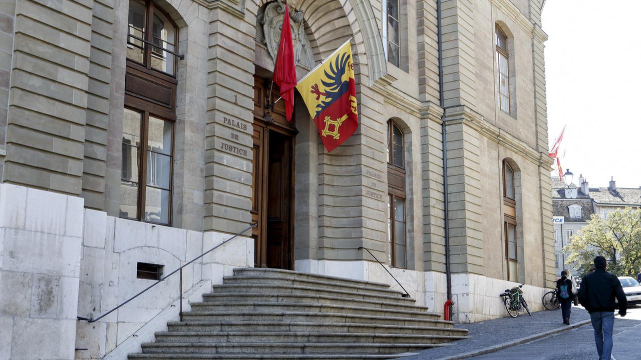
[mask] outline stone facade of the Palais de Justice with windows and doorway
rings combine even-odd
[[[176,316],[177,279],[76,316],[146,287],[140,264],[167,274],[236,233],[187,268],[185,301],[235,266],[394,285],[364,247],[436,312],[449,267],[458,322],[503,316],[517,282],[537,309],[554,279],[543,3],[289,1],[299,78],[353,49],[360,124],[327,152],[299,97],[292,122],[267,110],[280,3],[5,1],[0,357],[126,356]]]

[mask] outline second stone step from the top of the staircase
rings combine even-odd
[[[390,290],[389,286],[385,289],[371,286],[356,285],[337,281],[321,281],[318,279],[301,279],[294,276],[274,276],[270,273],[264,275],[233,275],[223,278],[224,284],[270,284],[278,286],[307,286],[309,288],[324,290],[342,290],[354,293],[367,293],[372,295],[387,295],[402,297],[404,293]],[[404,298],[410,300],[409,298]]]

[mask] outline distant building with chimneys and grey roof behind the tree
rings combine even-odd
[[[555,217],[563,217],[562,224],[554,224],[554,252],[556,256],[556,275],[560,276],[564,268],[576,273],[574,263],[567,264],[569,256],[563,247],[570,244],[572,235],[587,225],[593,214],[603,218],[608,213],[622,208],[641,207],[640,188],[617,188],[611,179],[607,187],[590,188],[588,180],[579,177],[579,186],[565,184],[558,177],[552,177],[552,208]]]

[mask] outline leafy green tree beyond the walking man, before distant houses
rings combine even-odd
[[[567,262],[576,261],[576,270],[584,276],[594,268],[594,257],[608,259],[608,271],[618,276],[635,276],[641,267],[641,209],[617,209],[604,219],[592,215],[588,224],[574,234]]]

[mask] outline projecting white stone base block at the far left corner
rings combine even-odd
[[[74,359],[83,212],[79,197],[0,184],[1,359]]]

